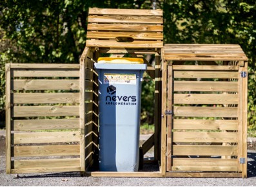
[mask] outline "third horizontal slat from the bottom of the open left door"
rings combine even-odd
[[[80,141],[80,132],[23,132],[14,134],[14,144]]]

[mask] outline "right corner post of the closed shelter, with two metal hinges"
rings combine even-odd
[[[242,79],[242,157],[246,159],[242,165],[242,177],[247,177],[247,87],[248,87],[248,62],[244,62],[242,71],[246,72],[246,77]]]

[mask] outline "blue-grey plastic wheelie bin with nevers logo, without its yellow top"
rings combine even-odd
[[[135,172],[139,168],[141,81],[146,64],[94,66],[99,73],[99,170]]]

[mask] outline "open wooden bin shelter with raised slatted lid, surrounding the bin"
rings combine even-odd
[[[153,162],[160,160],[160,124],[161,124],[161,48],[163,46],[163,21],[162,10],[132,10],[132,9],[105,9],[90,8],[88,15],[88,31],[86,48],[80,58],[80,64],[90,71],[86,76],[92,80],[92,85],[86,85],[85,89],[92,91],[89,100],[94,102],[91,112],[85,114],[85,121],[93,124],[85,126],[90,138],[86,138],[85,145],[93,142],[93,147],[88,147],[87,154],[92,152],[91,165],[98,162],[98,85],[97,73],[94,71],[94,63],[99,57],[137,57],[143,58],[148,65],[146,72],[155,80],[155,134],[152,135],[141,147],[144,155],[154,146]],[[153,67],[145,55],[155,56]],[[88,72],[89,72],[88,71]],[[90,114],[90,115],[89,115]],[[92,115],[91,115],[92,114]],[[92,133],[89,133],[92,130]],[[90,165],[86,168],[90,168]],[[88,172],[98,177],[161,177],[162,172]]]

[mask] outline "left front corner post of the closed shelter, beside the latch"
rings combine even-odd
[[[166,177],[166,121],[167,118],[164,116],[166,111],[166,92],[167,92],[167,65],[166,61],[162,61],[162,123],[161,123],[161,175]]]

